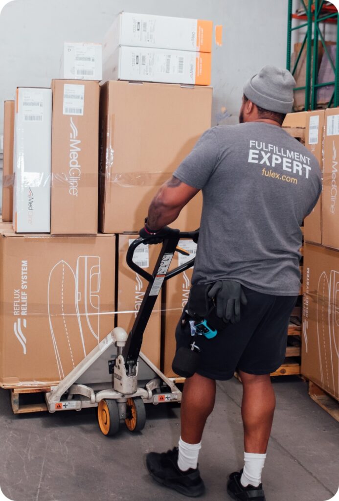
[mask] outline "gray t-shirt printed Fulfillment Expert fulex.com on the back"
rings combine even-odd
[[[174,176],[203,193],[192,284],[299,294],[300,225],[321,192],[319,164],[301,143],[264,122],[220,125]]]

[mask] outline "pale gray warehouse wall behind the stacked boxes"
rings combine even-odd
[[[213,124],[236,123],[246,79],[267,63],[286,65],[287,0],[14,0],[0,16],[0,134],[3,101],[17,86],[49,87],[64,41],[102,42],[122,10],[211,19]],[[231,115],[231,117],[228,117]]]

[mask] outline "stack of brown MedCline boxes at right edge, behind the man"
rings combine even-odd
[[[323,190],[320,208],[312,216],[313,226],[304,238],[304,298],[302,374],[339,399],[339,211],[337,207],[337,151],[339,151],[339,108],[310,113],[310,123],[323,113]],[[315,120],[314,120],[315,124]],[[313,125],[314,125],[313,124]],[[314,125],[315,127],[315,125]],[[315,129],[313,129],[314,131]],[[311,131],[311,126],[309,126]],[[321,141],[319,142],[321,144]],[[320,150],[320,147],[318,146]],[[319,153],[320,154],[320,153]]]

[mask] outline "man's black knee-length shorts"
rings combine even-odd
[[[212,338],[195,336],[201,349],[197,373],[210,379],[230,379],[236,369],[248,374],[270,374],[283,363],[287,345],[289,317],[297,296],[270,296],[242,287],[247,305],[241,306],[237,324],[225,324]],[[191,344],[188,322],[176,329],[177,349]],[[187,317],[187,315],[186,315]]]

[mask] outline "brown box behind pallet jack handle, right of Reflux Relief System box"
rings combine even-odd
[[[144,298],[148,282],[135,273],[126,263],[129,245],[138,238],[136,233],[118,236],[118,305],[117,325],[130,332]],[[140,245],[134,253],[134,262],[148,273],[152,273],[160,253],[161,245]],[[119,313],[120,312],[120,313]],[[126,312],[126,313],[124,313]],[[144,332],[141,351],[160,368],[160,296],[151,313]]]

